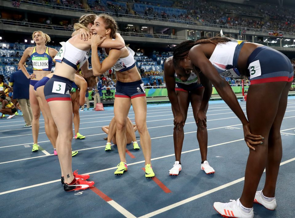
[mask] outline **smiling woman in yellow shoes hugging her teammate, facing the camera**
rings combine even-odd
[[[115,37],[117,30],[116,21],[108,14],[100,14],[94,21],[93,33],[100,34],[107,39]],[[93,40],[94,38],[94,40]],[[120,156],[120,163],[115,175],[124,173],[127,170],[126,151],[126,122],[131,103],[135,112],[135,123],[140,134],[140,144],[145,158],[145,176],[154,177],[155,173],[151,168],[151,138],[146,125],[147,101],[144,91],[144,83],[140,73],[137,71],[133,58],[134,52],[127,48],[105,49],[108,56],[100,64],[97,54],[97,46],[100,43],[100,36],[92,37],[92,69],[93,75],[101,75],[108,69],[114,67],[116,70],[116,93],[114,113],[117,123],[116,141]]]

